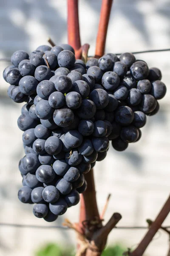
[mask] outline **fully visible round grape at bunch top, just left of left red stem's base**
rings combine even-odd
[[[59,67],[71,68],[74,65],[75,60],[76,58],[74,53],[69,50],[59,52],[57,56]]]

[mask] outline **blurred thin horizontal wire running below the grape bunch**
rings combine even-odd
[[[64,229],[68,230],[68,227],[63,226],[39,226],[39,225],[26,225],[26,224],[12,224],[12,223],[0,223],[0,226],[6,226],[6,227],[27,227],[27,228],[38,228],[38,229]],[[170,228],[170,226],[164,227],[164,228]],[[116,227],[116,229],[148,229],[146,226],[139,226],[139,227],[133,227],[133,226],[122,226],[122,227]]]

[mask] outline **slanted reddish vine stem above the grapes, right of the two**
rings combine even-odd
[[[99,28],[96,39],[96,58],[100,58],[105,53],[106,36],[108,31],[108,23],[111,14],[112,3],[113,0],[102,0]]]

